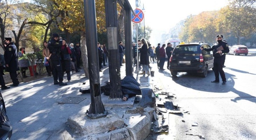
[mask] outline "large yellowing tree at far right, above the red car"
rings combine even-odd
[[[222,27],[233,33],[237,44],[241,37],[250,37],[256,31],[255,0],[231,0],[230,4],[220,10]]]

